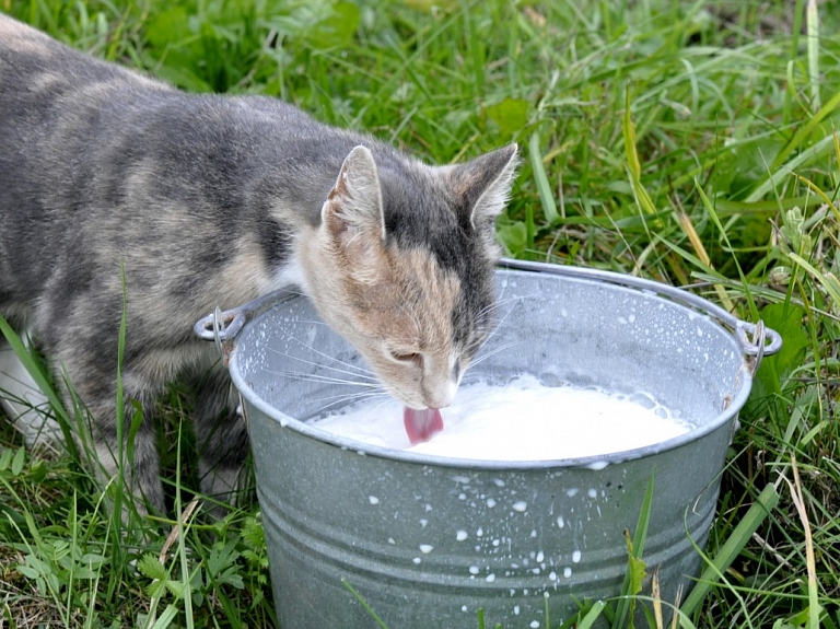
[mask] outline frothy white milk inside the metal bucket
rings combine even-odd
[[[434,456],[489,461],[550,461],[622,452],[690,430],[645,394],[545,386],[522,375],[504,386],[462,385],[442,409],[444,430],[411,445],[396,399],[369,400],[314,422],[335,434]]]

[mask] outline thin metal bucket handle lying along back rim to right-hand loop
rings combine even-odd
[[[603,271],[600,269],[587,269],[582,267],[568,267],[561,265],[551,265],[547,263],[535,263],[527,260],[514,260],[502,258],[499,266],[508,269],[536,271],[541,273],[551,273],[570,278],[581,278],[597,280],[605,283],[629,287],[641,291],[650,291],[658,295],[666,296],[672,301],[690,306],[703,312],[735,331],[735,338],[740,345],[742,351],[750,357],[755,357],[754,372],[758,370],[761,359],[773,354],[782,349],[781,335],[770,329],[762,321],[751,324],[739,319],[732,313],[721,306],[713,304],[709,300],[690,293],[684,289],[678,289],[653,280],[626,276],[612,271]]]

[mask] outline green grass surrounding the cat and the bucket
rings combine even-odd
[[[516,140],[498,224],[511,255],[693,284],[781,331],[730,452],[704,596],[680,624],[840,626],[837,0],[0,9],[184,89],[287,98],[429,161]],[[162,400],[161,442],[168,478],[195,487],[180,399]],[[78,459],[27,452],[8,426],[0,442],[0,626],[273,625],[256,506],[124,531]]]

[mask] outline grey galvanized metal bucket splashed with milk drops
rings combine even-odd
[[[283,629],[380,627],[360,598],[392,629],[475,628],[479,608],[490,627],[545,627],[547,610],[555,626],[578,601],[619,594],[625,529],[652,478],[644,561],[658,567],[665,599],[690,587],[737,412],[779,335],[616,273],[505,261],[497,283],[502,323],[475,372],[645,391],[696,428],[649,447],[540,462],[345,440],[306,421],[350,398],[357,389],[341,381],[362,360],[307,300],[273,295],[228,349]],[[219,339],[244,318],[217,313],[197,330],[213,337],[215,321]]]

